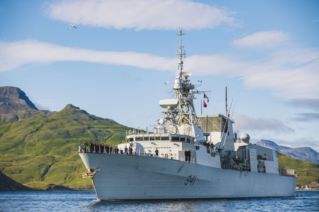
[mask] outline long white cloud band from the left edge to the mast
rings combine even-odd
[[[0,72],[28,63],[53,63],[56,61],[130,65],[146,69],[153,69],[154,64],[157,64],[156,69],[159,71],[169,70],[176,64],[174,59],[132,51],[95,51],[59,46],[36,40],[0,42]]]

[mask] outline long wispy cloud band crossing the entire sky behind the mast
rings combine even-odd
[[[32,54],[30,54],[32,50]],[[285,51],[283,51],[285,52]],[[307,57],[303,54],[307,53]],[[275,54],[275,53],[274,53]],[[296,62],[291,54],[275,54],[264,61],[241,61],[226,54],[193,55],[185,59],[184,70],[198,70],[196,75],[221,75],[239,77],[249,88],[271,89],[285,98],[319,98],[319,53],[316,50],[295,49],[299,54]],[[287,65],[289,57],[297,65]],[[123,58],[126,58],[123,60]],[[282,62],[280,62],[282,58]],[[308,59],[307,59],[308,58]],[[95,51],[65,47],[56,44],[23,40],[0,41],[0,72],[8,71],[28,63],[50,64],[56,61],[82,61],[111,65],[129,65],[157,71],[172,71],[175,58],[159,57],[149,53],[133,51]],[[293,63],[293,61],[291,61]],[[212,66],[213,64],[213,66]]]

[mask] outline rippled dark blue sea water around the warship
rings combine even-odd
[[[230,200],[97,201],[95,191],[4,191],[0,211],[319,211],[319,191]]]

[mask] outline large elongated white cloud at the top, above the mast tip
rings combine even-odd
[[[48,17],[69,24],[114,29],[184,30],[240,26],[232,11],[189,0],[72,0],[51,3]]]

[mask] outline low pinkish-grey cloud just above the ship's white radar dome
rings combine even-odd
[[[258,132],[272,132],[274,134],[295,133],[295,130],[285,125],[281,120],[273,118],[250,118],[234,114],[234,127],[243,130],[257,130]]]

